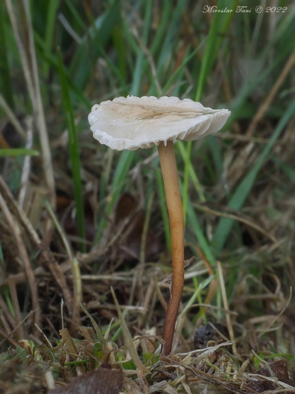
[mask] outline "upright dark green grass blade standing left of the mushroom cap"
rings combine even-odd
[[[62,105],[65,112],[65,120],[68,129],[68,135],[69,135],[69,153],[70,153],[70,160],[72,166],[74,197],[75,197],[76,210],[77,210],[78,235],[80,238],[85,239],[84,206],[83,206],[82,184],[81,184],[81,175],[80,175],[78,136],[75,126],[73,107],[69,96],[68,85],[66,81],[66,75],[64,72],[64,66],[63,66],[60,50],[58,50],[58,55],[59,55],[59,78],[60,78],[60,86],[61,86]],[[86,252],[85,243],[81,242],[80,250],[81,252]]]

